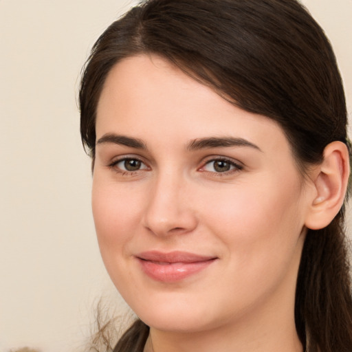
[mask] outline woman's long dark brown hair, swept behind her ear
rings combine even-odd
[[[113,65],[157,54],[245,111],[272,118],[300,170],[347,141],[347,111],[336,58],[324,32],[296,0],[149,0],[100,36],[80,88],[80,131],[94,160],[96,107]],[[309,230],[296,288],[296,329],[309,352],[352,351],[352,300],[344,209]],[[138,321],[115,352],[142,351]],[[309,346],[307,346],[309,336]],[[141,340],[142,339],[142,340]]]

